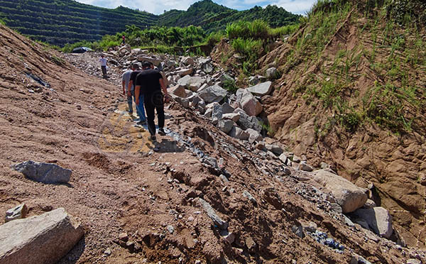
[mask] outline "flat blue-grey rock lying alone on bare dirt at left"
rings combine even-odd
[[[47,184],[67,183],[70,181],[71,170],[59,167],[52,163],[35,163],[28,160],[12,166],[14,170],[22,172],[25,177],[35,182]]]

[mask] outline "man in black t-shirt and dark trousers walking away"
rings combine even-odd
[[[151,62],[143,62],[142,72],[136,76],[135,97],[136,104],[143,100],[145,104],[146,116],[148,119],[148,131],[151,134],[151,141],[155,141],[155,109],[158,116],[158,134],[165,135],[164,132],[164,102],[168,102],[168,92],[165,87],[163,76],[158,70],[153,70]],[[163,89],[165,97],[161,90]],[[143,95],[143,98],[141,98]]]

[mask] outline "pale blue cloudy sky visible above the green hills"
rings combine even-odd
[[[114,9],[117,6],[126,6],[131,9],[139,9],[149,13],[159,15],[170,9],[187,10],[191,4],[197,0],[77,0],[80,3],[92,4],[94,6],[102,6]],[[317,0],[213,0],[217,4],[222,4],[231,9],[245,10],[251,9],[253,6],[268,6],[268,4],[281,6],[285,10],[292,13],[305,14],[312,4]]]

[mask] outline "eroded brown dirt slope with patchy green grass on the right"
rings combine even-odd
[[[329,163],[361,187],[373,183],[405,242],[424,248],[425,31],[354,2],[318,9],[261,59],[283,73],[273,97],[263,98],[268,120],[275,137],[316,166]]]

